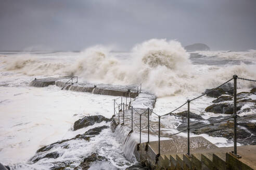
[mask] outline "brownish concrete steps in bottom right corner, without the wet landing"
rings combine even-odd
[[[232,147],[198,150],[191,153],[160,155],[159,169],[256,169],[256,146],[238,147],[241,158],[235,157],[230,151]]]

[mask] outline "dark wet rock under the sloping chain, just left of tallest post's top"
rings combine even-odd
[[[212,89],[206,89],[205,93],[211,91]],[[233,95],[234,94],[234,87],[231,87],[230,83],[224,84],[223,86],[213,90],[212,92],[208,93],[207,96],[210,97],[220,97],[223,94],[229,94],[229,95]]]

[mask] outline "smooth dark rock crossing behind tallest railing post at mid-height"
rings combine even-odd
[[[242,105],[237,104],[236,110],[239,111]],[[213,112],[214,114],[228,114],[232,115],[234,112],[234,105],[230,103],[219,103],[208,106],[204,111]]]

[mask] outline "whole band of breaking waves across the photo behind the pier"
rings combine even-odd
[[[39,61],[35,58],[6,60],[7,70],[28,75],[77,75],[86,81],[111,84],[139,84],[157,96],[203,92],[230,79],[234,74],[256,79],[255,65],[193,65],[189,53],[178,41],[151,39],[136,45],[130,59],[116,58],[111,49],[95,46],[79,54],[74,63]],[[243,87],[254,86],[239,81]]]

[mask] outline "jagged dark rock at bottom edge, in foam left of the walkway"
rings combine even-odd
[[[75,169],[82,168],[83,170],[87,170],[90,167],[91,163],[99,162],[99,161],[107,161],[107,160],[108,159],[106,159],[105,157],[102,157],[102,156],[98,155],[97,153],[93,153],[93,154],[89,155],[87,158],[85,158],[84,161],[81,162],[79,167],[76,167]]]

